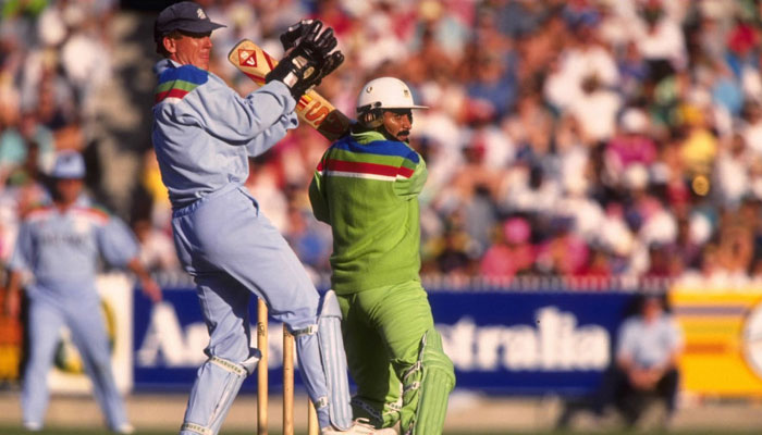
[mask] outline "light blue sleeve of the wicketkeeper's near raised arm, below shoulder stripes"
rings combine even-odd
[[[262,134],[266,134],[266,138],[275,137],[279,128],[283,127],[268,129],[281,123],[283,115],[292,114],[296,105],[288,88],[278,80],[243,98],[211,75],[183,102],[176,104],[175,122],[198,125],[225,142],[239,146],[248,146]],[[259,140],[266,144],[265,139]]]

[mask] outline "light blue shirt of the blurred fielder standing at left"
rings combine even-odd
[[[138,244],[118,217],[101,210],[72,206],[46,207],[22,222],[9,266],[35,276],[29,295],[57,300],[93,297],[101,256],[115,266],[136,258]]]

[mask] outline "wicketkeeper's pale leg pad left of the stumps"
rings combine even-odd
[[[254,372],[258,361],[258,352],[243,362],[209,358],[198,370],[196,384],[190,390],[181,435],[216,435],[220,432],[241,384]]]

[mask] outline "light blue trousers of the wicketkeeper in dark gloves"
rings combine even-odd
[[[185,270],[195,277],[201,311],[209,330],[206,353],[232,362],[250,355],[248,303],[262,298],[269,313],[292,331],[317,323],[319,295],[298,258],[256,200],[243,188],[229,186],[176,210],[172,220],[175,247]],[[327,396],[316,335],[296,338],[299,372],[314,402]],[[209,427],[219,410],[225,373],[209,362],[198,371],[185,422]],[[328,409],[318,409],[321,427]],[[190,433],[190,432],[188,432]]]

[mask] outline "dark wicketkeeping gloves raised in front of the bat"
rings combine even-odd
[[[317,20],[307,25],[296,47],[265,76],[265,82],[283,82],[298,100],[307,90],[320,84],[322,77],[339,67],[344,55],[340,51],[331,53],[336,47],[333,29],[321,29],[322,23]]]

